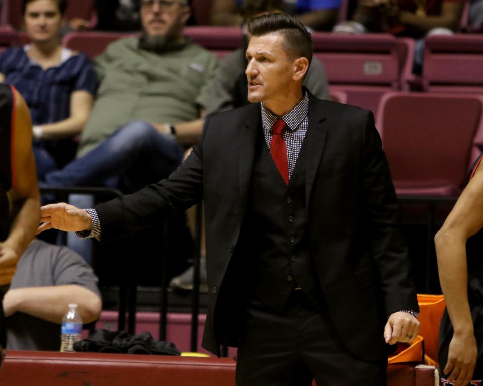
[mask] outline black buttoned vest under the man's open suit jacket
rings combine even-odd
[[[288,186],[270,155],[262,130],[258,135],[247,212],[238,246],[250,276],[248,296],[282,311],[297,286],[320,307],[307,229],[305,202],[306,143],[300,150]]]

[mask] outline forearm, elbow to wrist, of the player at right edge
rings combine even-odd
[[[468,303],[466,240],[444,227],[435,237],[441,288],[455,334],[473,334]]]

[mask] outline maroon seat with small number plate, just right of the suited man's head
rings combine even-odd
[[[312,34],[314,56],[327,73],[331,91],[347,93],[347,103],[376,114],[381,96],[401,90],[413,51],[407,39],[386,34]]]

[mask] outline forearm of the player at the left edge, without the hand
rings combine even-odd
[[[35,238],[37,226],[40,220],[40,197],[35,194],[33,197],[26,198],[16,206],[20,210],[12,224],[9,236],[4,245],[12,248],[20,258],[28,245]],[[14,212],[16,207],[14,206]]]

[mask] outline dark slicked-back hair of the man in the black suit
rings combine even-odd
[[[284,38],[284,48],[291,59],[305,57],[309,64],[312,62],[312,37],[293,16],[280,12],[257,16],[248,23],[248,33],[252,36],[279,33]]]

